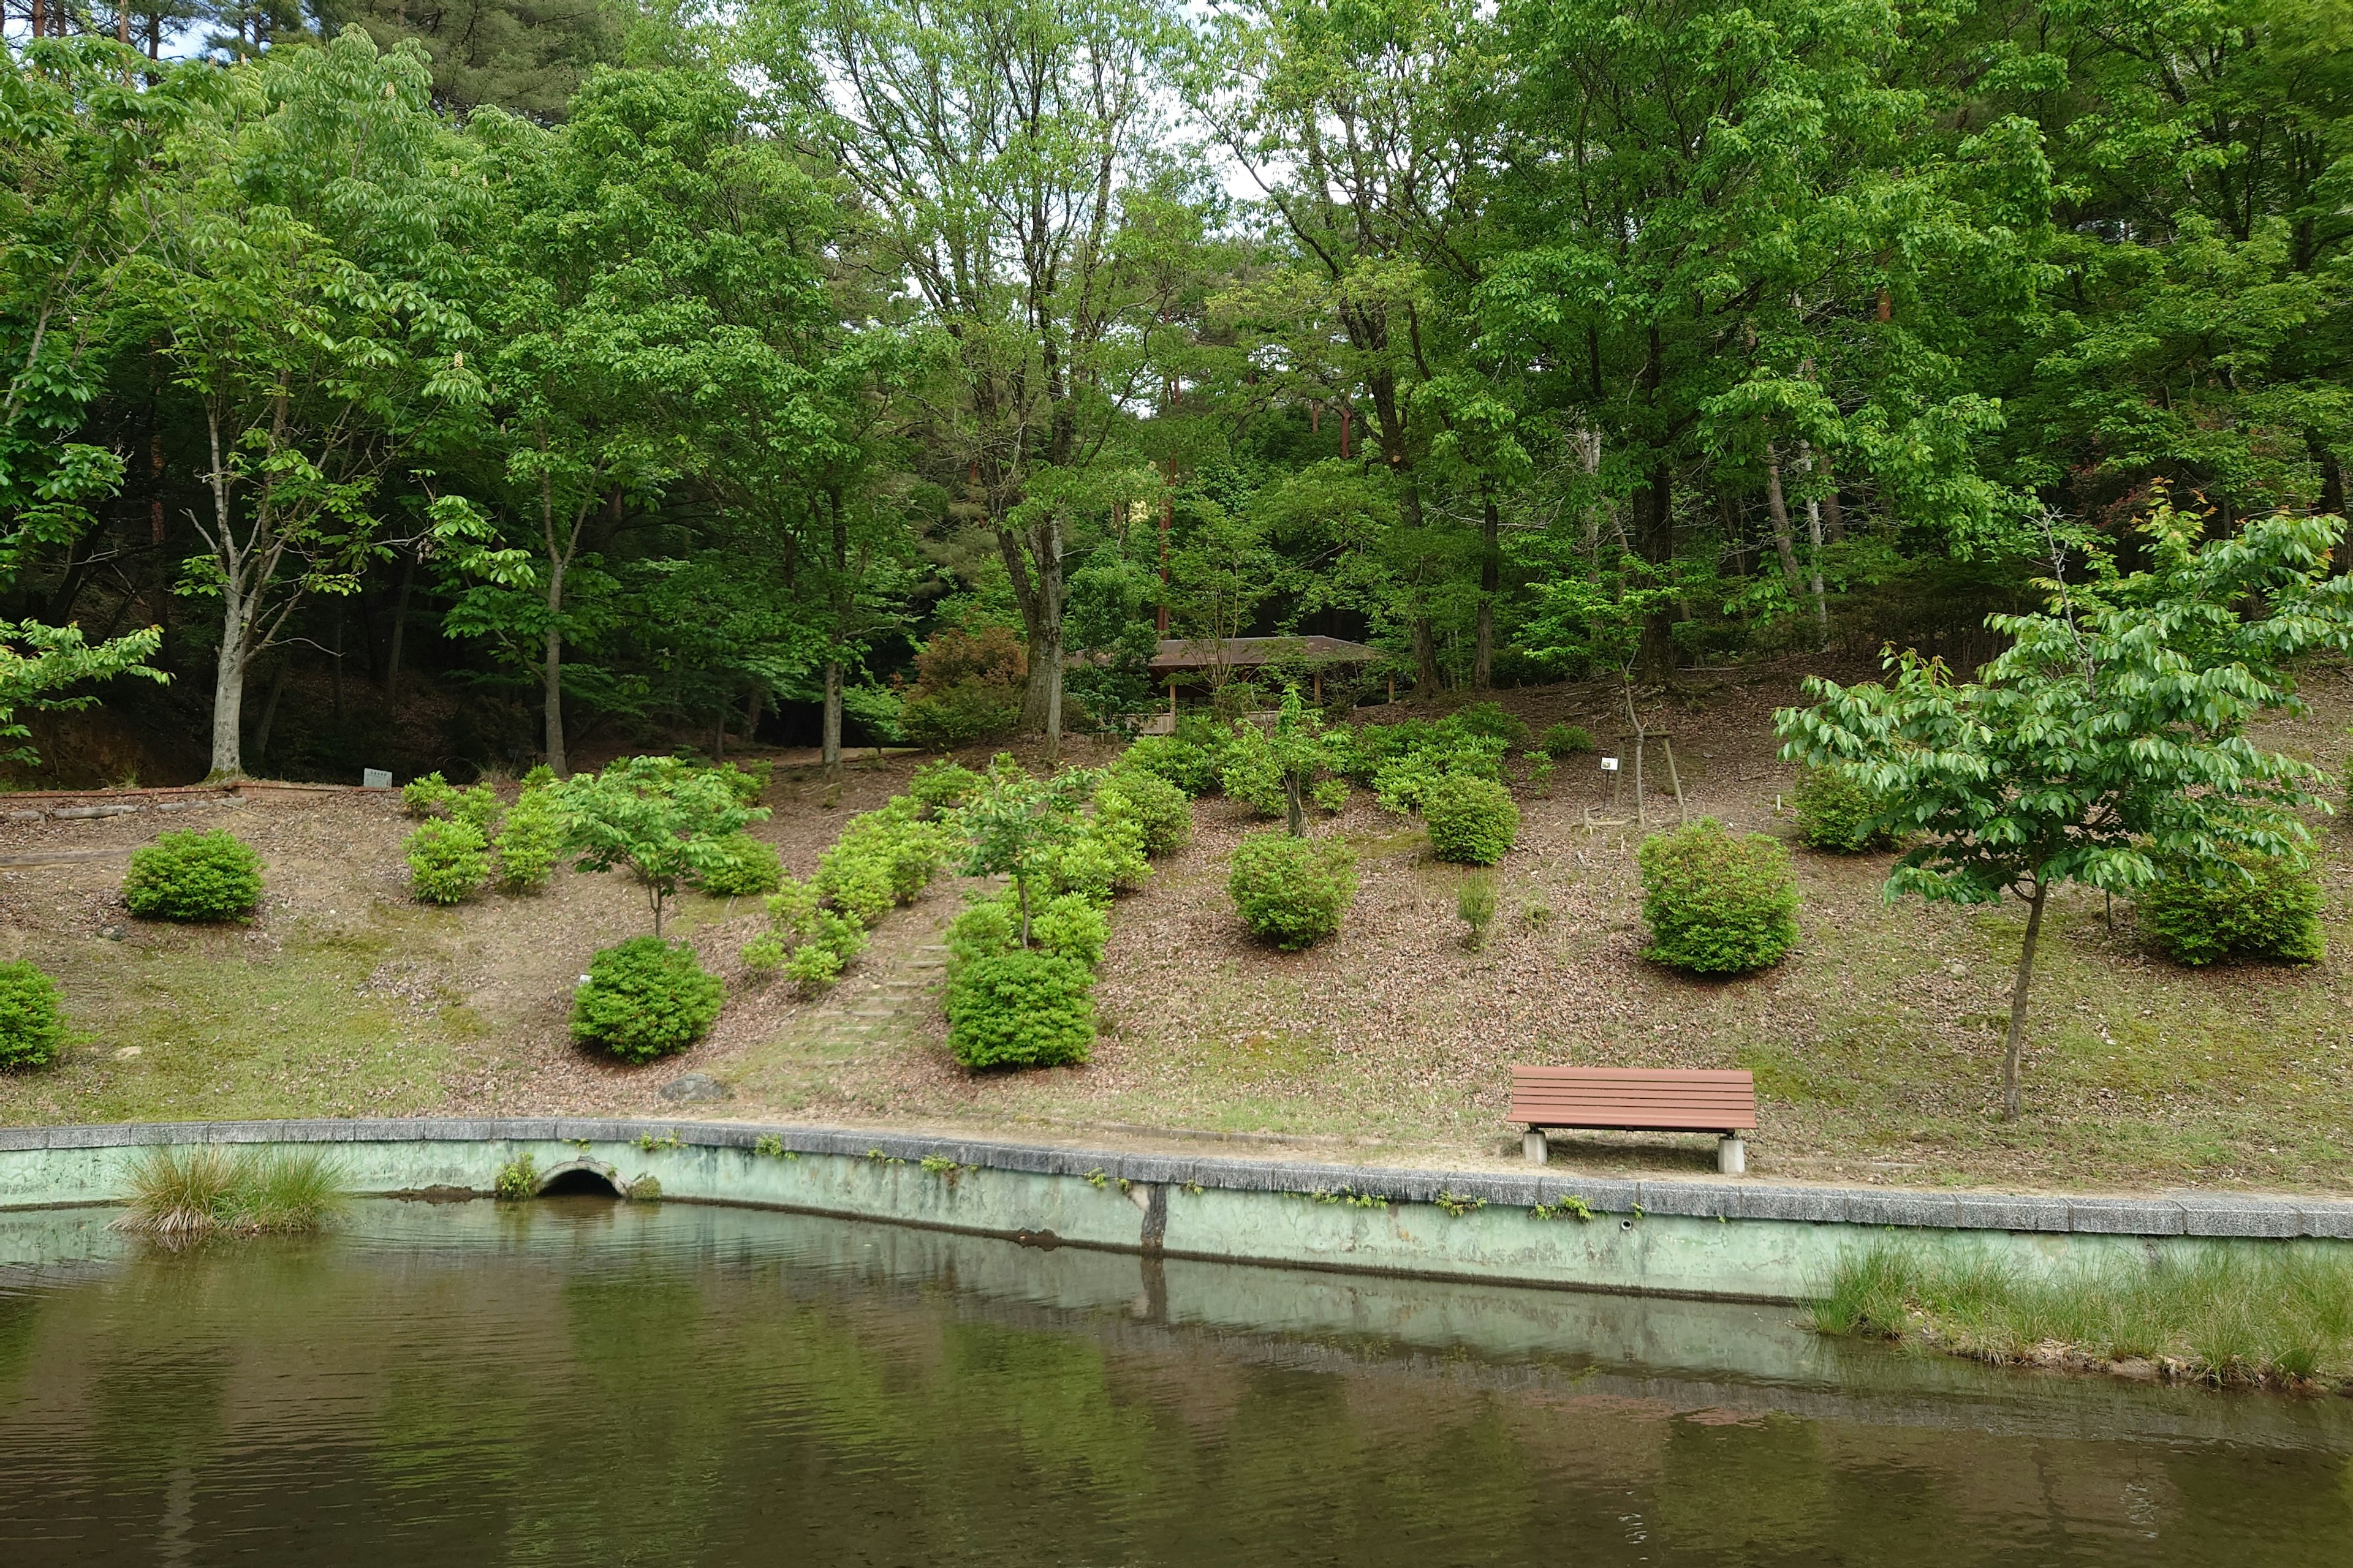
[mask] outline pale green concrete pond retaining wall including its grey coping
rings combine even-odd
[[[574,1119],[193,1121],[0,1131],[0,1208],[111,1204],[151,1145],[336,1145],[355,1192],[489,1192],[525,1154],[666,1199],[1040,1246],[1718,1300],[1802,1300],[1882,1237],[2064,1267],[2118,1248],[2344,1246],[2353,1204],[2061,1199],[1195,1159],[807,1126]],[[642,1190],[642,1187],[640,1187]],[[1569,1199],[1593,1218],[1574,1218]],[[1551,1213],[1544,1213],[1551,1211]]]

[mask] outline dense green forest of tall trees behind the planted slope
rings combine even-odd
[[[2334,0],[7,38],[19,785],[1104,726],[1162,635],[1379,649],[1334,705],[1967,670],[2167,496],[2344,510]]]

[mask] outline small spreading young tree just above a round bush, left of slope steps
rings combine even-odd
[[[654,936],[678,884],[720,870],[729,858],[727,835],[767,818],[767,806],[741,804],[720,773],[678,757],[628,757],[548,792],[565,813],[579,870],[626,865],[645,882]]]

